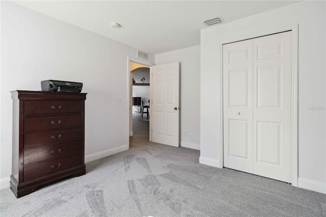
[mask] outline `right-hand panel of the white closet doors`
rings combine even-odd
[[[291,182],[291,32],[254,39],[254,174]]]

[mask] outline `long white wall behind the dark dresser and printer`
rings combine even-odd
[[[11,175],[9,91],[38,91],[47,79],[82,82],[88,93],[86,161],[98,159],[128,148],[127,58],[137,59],[136,53],[134,47],[1,1],[1,187],[9,186]]]

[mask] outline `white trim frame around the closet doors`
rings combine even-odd
[[[298,24],[282,26],[280,28],[271,29],[261,31],[259,33],[251,33],[248,35],[241,36],[239,38],[230,39],[227,41],[220,41],[220,134],[221,140],[220,144],[220,168],[224,166],[224,156],[223,156],[223,148],[224,148],[224,138],[223,138],[223,44],[247,40],[251,38],[262,37],[266,35],[292,31],[292,63],[291,63],[291,180],[292,185],[297,187],[297,179],[298,179]]]

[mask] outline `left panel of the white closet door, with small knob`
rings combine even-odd
[[[223,45],[224,166],[253,173],[253,40]]]

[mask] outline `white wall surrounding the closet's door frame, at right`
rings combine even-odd
[[[220,43],[298,24],[298,186],[326,193],[325,11],[304,1],[201,31],[200,162],[222,163]]]

